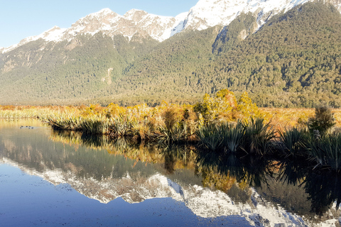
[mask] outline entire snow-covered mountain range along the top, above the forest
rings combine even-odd
[[[157,16],[137,9],[131,9],[121,16],[110,9],[102,9],[80,18],[70,28],[55,26],[9,48],[0,48],[0,52],[8,52],[39,38],[48,42],[70,41],[77,34],[94,35],[99,32],[110,36],[121,34],[128,38],[139,33],[143,37],[150,36],[161,42],[186,29],[203,30],[217,25],[227,26],[240,13],[249,12],[257,18],[258,26],[261,27],[276,13],[286,12],[308,1],[312,0],[200,0],[190,11],[175,17]],[[341,10],[340,1],[331,0],[330,3]]]

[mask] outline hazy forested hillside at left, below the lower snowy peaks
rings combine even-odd
[[[78,35],[71,42],[28,43],[1,56],[1,103],[73,104],[96,98],[156,44],[138,35],[129,42],[102,33]]]

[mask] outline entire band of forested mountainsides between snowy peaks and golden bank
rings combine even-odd
[[[0,55],[0,104],[194,103],[249,92],[258,106],[340,107],[341,15],[318,2],[157,41],[102,33],[36,40]],[[13,94],[13,91],[14,94]]]

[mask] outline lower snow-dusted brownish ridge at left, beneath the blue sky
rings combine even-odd
[[[78,34],[94,35],[99,32],[111,37],[124,35],[128,38],[138,33],[142,37],[150,36],[155,40],[163,41],[174,33],[181,31],[177,27],[179,24],[183,24],[185,14],[181,13],[173,18],[170,16],[156,16],[146,11],[131,9],[124,16],[121,16],[110,9],[102,9],[97,13],[91,13],[84,18],[80,18],[70,28],[58,28],[58,26],[55,26],[40,35],[25,38],[16,45],[4,48],[2,52],[8,52],[39,38],[43,38],[48,42],[70,41]]]

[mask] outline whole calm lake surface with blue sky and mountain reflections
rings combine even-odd
[[[340,226],[339,176],[293,164],[0,121],[0,226]]]

